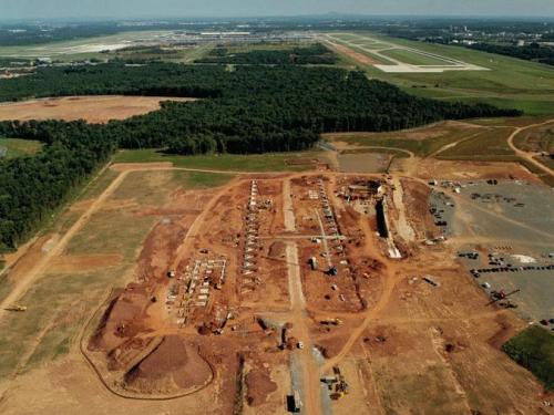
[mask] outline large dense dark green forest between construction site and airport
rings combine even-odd
[[[39,69],[0,81],[0,101],[62,95],[193,96],[112,121],[2,122],[0,136],[39,139],[35,157],[0,160],[0,249],[17,247],[117,147],[178,154],[309,148],[324,132],[391,131],[444,118],[517,115],[489,105],[418,98],[363,73],[329,68],[109,63]]]

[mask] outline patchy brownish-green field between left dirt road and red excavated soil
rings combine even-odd
[[[110,177],[113,178],[112,175],[102,176],[99,186],[91,186],[81,201],[96,197],[111,183]],[[137,215],[137,209],[155,210],[167,206],[171,195],[178,189],[223,185],[233,177],[176,170],[129,173],[63,252],[66,259],[112,256],[119,260],[88,269],[73,266],[64,270],[49,266],[18,301],[28,307],[28,311],[6,314],[0,322],[0,378],[24,373],[76,347],[83,324],[112,288],[124,286],[143,241],[163,218],[162,214]],[[68,215],[75,211],[80,216],[84,207],[76,205]],[[74,221],[70,218],[73,216],[68,220]],[[6,283],[10,282],[0,281],[0,291],[9,288]]]

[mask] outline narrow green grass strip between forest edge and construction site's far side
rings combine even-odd
[[[294,158],[317,158],[321,153],[275,153],[264,155],[206,155],[175,156],[166,155],[156,149],[121,151],[114,157],[114,163],[173,163],[176,167],[216,169],[229,172],[299,172],[311,166],[288,166],[285,162]]]

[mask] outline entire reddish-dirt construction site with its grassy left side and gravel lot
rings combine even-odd
[[[112,165],[1,281],[0,409],[546,409],[500,347],[552,317],[552,190],[421,173]],[[489,252],[550,268],[474,278]]]

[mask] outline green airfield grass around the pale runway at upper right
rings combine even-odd
[[[554,114],[552,66],[461,46],[379,37],[367,32],[357,33],[367,34],[377,41],[392,42],[489,69],[443,73],[386,73],[377,68],[357,63],[370,77],[391,82],[411,94],[425,97],[468,103],[484,102],[523,110],[527,115]],[[338,37],[347,41],[355,39],[353,35]]]

